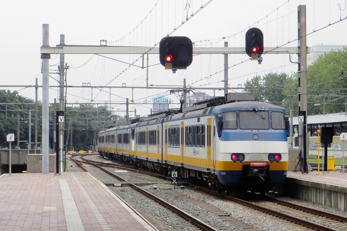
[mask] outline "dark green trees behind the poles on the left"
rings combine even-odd
[[[11,103],[11,104],[8,104]],[[35,105],[34,100],[20,96],[17,91],[0,92],[0,147],[8,147],[6,134],[14,133],[15,142],[12,147],[17,145],[17,126],[19,115],[19,138],[20,140],[29,140],[29,110],[31,110],[31,142],[35,141]],[[42,141],[42,106],[38,104],[38,127],[37,141]],[[58,105],[57,105],[58,106]],[[58,109],[58,108],[56,108]],[[53,137],[55,127],[54,105],[50,106],[49,120],[49,146],[54,149]],[[94,135],[98,136],[98,132],[105,127],[113,124],[110,117],[111,112],[108,107],[103,105],[95,107],[93,105],[80,105],[79,107],[67,107],[65,115],[65,138],[64,143],[67,144],[67,150],[70,150],[70,123],[72,121],[73,147],[76,151],[88,150],[90,145],[94,144]],[[71,119],[72,118],[72,119]],[[97,142],[96,142],[97,143]],[[20,148],[26,149],[25,143],[20,143]]]

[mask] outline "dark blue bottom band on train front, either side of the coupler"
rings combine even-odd
[[[219,179],[219,181],[223,185],[238,185],[238,184],[244,184],[249,182],[250,184],[252,183],[251,181],[240,181],[242,171],[220,171],[216,170],[216,175]],[[269,173],[269,179],[270,181],[265,181],[264,183],[270,184],[270,185],[278,185],[278,184],[283,184],[284,181],[286,180],[287,176],[287,170],[272,170]]]

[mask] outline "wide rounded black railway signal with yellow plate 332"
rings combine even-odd
[[[184,36],[171,36],[161,39],[159,44],[159,60],[165,69],[187,69],[193,61],[193,43]]]

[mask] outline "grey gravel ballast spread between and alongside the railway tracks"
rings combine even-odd
[[[108,161],[108,159],[103,159],[100,158],[99,156],[89,156],[88,159],[93,159],[93,160],[98,160],[98,161]],[[71,170],[73,170],[72,168]],[[108,170],[114,172],[116,169],[115,168],[108,168]],[[149,185],[145,186],[145,189],[150,191],[153,194],[156,194],[160,196],[161,198],[165,199],[166,201],[174,204],[175,206],[184,209],[188,213],[192,214],[193,216],[199,217],[201,220],[204,222],[210,224],[211,226],[214,226],[220,230],[242,230],[239,229],[238,227],[230,224],[229,222],[225,222],[221,219],[219,219],[218,216],[204,210],[203,208],[192,204],[190,202],[184,201],[180,198],[177,198],[173,196],[172,194],[169,194],[165,192],[165,190],[161,189],[167,189],[167,188],[172,188],[174,190],[174,187],[170,184],[160,184],[164,183],[162,179],[158,179],[152,176],[147,176],[147,175],[142,175],[136,172],[118,172],[121,177],[124,177],[128,180],[146,180],[151,183],[157,183],[155,186],[157,186],[157,189],[153,189],[154,185]],[[107,180],[107,179],[105,179]],[[115,187],[113,187],[115,188]],[[242,221],[243,223],[246,223],[248,225],[251,225],[255,228],[261,229],[261,230],[266,230],[266,231],[293,231],[293,230],[305,230],[303,229],[302,226],[295,225],[293,223],[284,221],[284,220],[278,220],[276,217],[273,217],[271,215],[267,215],[258,211],[255,211],[253,209],[247,208],[245,206],[239,205],[234,202],[227,201],[225,199],[220,199],[217,198],[213,195],[209,195],[203,192],[196,191],[194,189],[180,189],[176,188],[179,193],[185,194],[193,199],[203,201],[205,203],[214,205],[215,207],[219,208],[220,210],[224,211],[227,214],[230,214],[231,217]],[[131,198],[137,198],[138,196],[135,195],[137,192],[130,193],[129,190],[126,188],[115,188],[115,192],[119,194],[122,198],[124,197],[127,201]],[[129,196],[129,195],[130,196]],[[141,197],[139,197],[141,198]],[[304,205],[306,207],[312,207],[318,210],[324,210],[330,213],[342,215],[342,216],[347,216],[347,212],[343,212],[340,210],[336,210],[333,208],[329,207],[324,207],[321,205],[317,205],[314,203],[310,202],[305,202],[293,198],[288,198],[288,197],[279,197],[279,199],[289,201],[295,204],[299,205]],[[140,201],[134,201],[132,202],[133,204],[136,204],[136,206],[145,206],[142,207],[141,210],[148,212],[149,214],[156,216],[155,214],[161,214],[162,211],[150,211],[149,207],[146,206],[146,202],[143,201],[143,199],[140,199]],[[154,209],[155,210],[155,209]],[[171,221],[170,221],[171,222]],[[170,223],[169,222],[169,223]],[[184,226],[184,224],[174,224],[174,226]],[[169,228],[169,227],[168,227]],[[172,230],[170,228],[170,230]],[[174,229],[175,230],[175,229]],[[178,230],[183,230],[183,229],[178,229]]]

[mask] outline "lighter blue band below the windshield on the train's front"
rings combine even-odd
[[[256,141],[287,141],[287,132],[285,130],[222,130],[219,137],[221,141],[254,141],[253,135],[257,134]]]

